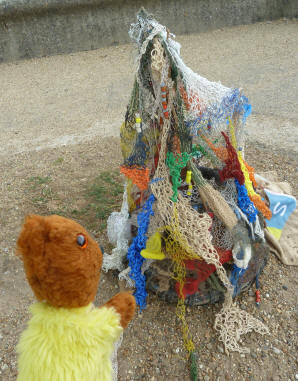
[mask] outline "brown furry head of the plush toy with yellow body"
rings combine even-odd
[[[96,295],[102,252],[78,223],[60,216],[26,217],[17,250],[38,300],[83,307]]]

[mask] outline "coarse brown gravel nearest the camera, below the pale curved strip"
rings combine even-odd
[[[285,160],[283,152],[275,151],[272,154],[269,147],[256,147],[253,144],[248,144],[248,147],[246,157],[249,163],[253,163],[258,171],[274,168],[280,179],[287,179],[292,184],[297,195],[297,161],[293,161],[293,158]],[[34,301],[22,264],[13,255],[24,214],[59,212],[72,217],[71,208],[82,208],[87,202],[84,200],[85,185],[100,171],[117,168],[120,160],[118,138],[26,152],[3,159],[0,380],[15,380],[15,345],[29,318],[28,306]],[[52,179],[49,185],[51,197],[32,201],[36,192],[31,187],[32,176],[48,176]],[[86,226],[92,223],[86,215],[79,216],[78,221]],[[96,225],[91,228],[91,233],[109,249],[105,234],[99,234]],[[212,328],[220,305],[187,308],[187,320],[198,350],[199,379],[294,381],[297,373],[296,290],[296,269],[282,265],[271,256],[261,276],[261,307],[255,307],[251,292],[239,298],[241,308],[263,320],[270,329],[270,334],[264,337],[256,334],[245,336],[243,344],[250,348],[250,354],[245,356],[231,353],[228,357],[223,353],[223,346]],[[112,273],[103,274],[96,304],[100,305],[118,291],[116,277]],[[184,356],[175,306],[150,295],[148,308],[142,316],[136,316],[125,332],[119,351],[119,381],[188,380]]]

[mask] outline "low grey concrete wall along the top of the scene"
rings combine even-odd
[[[0,62],[129,41],[144,6],[175,34],[297,17],[297,0],[0,0]]]

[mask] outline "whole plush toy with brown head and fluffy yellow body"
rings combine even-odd
[[[73,220],[26,217],[17,241],[28,282],[38,300],[17,345],[17,381],[110,381],[114,343],[135,312],[120,292],[93,305],[102,252]]]

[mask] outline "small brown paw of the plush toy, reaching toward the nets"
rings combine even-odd
[[[134,296],[129,292],[120,292],[110,299],[106,304],[106,307],[114,307],[114,309],[121,316],[120,324],[123,328],[126,328],[128,323],[134,316],[136,310],[136,301]]]

